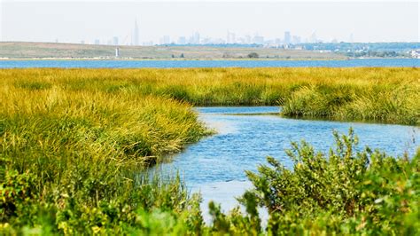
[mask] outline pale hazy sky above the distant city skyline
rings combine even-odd
[[[113,36],[130,43],[135,19],[140,42],[176,39],[198,31],[201,37],[226,39],[263,35],[283,38],[284,31],[302,39],[354,42],[419,42],[419,4],[411,2],[333,1],[12,1],[0,0],[2,41],[92,43]]]

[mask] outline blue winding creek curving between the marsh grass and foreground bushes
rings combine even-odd
[[[278,106],[202,107],[197,110],[200,119],[217,133],[188,146],[157,169],[169,174],[179,170],[191,191],[202,193],[203,210],[211,200],[222,202],[224,209],[236,205],[234,197],[252,186],[245,177],[245,169],[255,171],[259,164],[266,163],[268,155],[292,168],[292,161],[284,153],[292,141],[305,139],[316,150],[326,152],[334,143],[332,130],[347,133],[353,127],[360,140],[360,149],[369,146],[388,154],[402,155],[415,153],[420,139],[420,129],[412,126],[296,120],[261,114],[278,113]]]

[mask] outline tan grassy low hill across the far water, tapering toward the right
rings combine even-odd
[[[75,43],[0,42],[1,59],[347,59],[331,51],[265,47],[115,46]],[[250,58],[252,57],[252,58]]]

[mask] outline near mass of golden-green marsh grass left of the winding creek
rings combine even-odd
[[[0,87],[0,230],[94,233],[131,225],[139,210],[189,208],[179,178],[138,175],[208,133],[190,105],[17,75]]]

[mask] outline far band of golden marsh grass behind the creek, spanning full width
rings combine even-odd
[[[194,106],[284,106],[290,117],[419,125],[418,68],[8,69],[8,86],[174,98]]]

